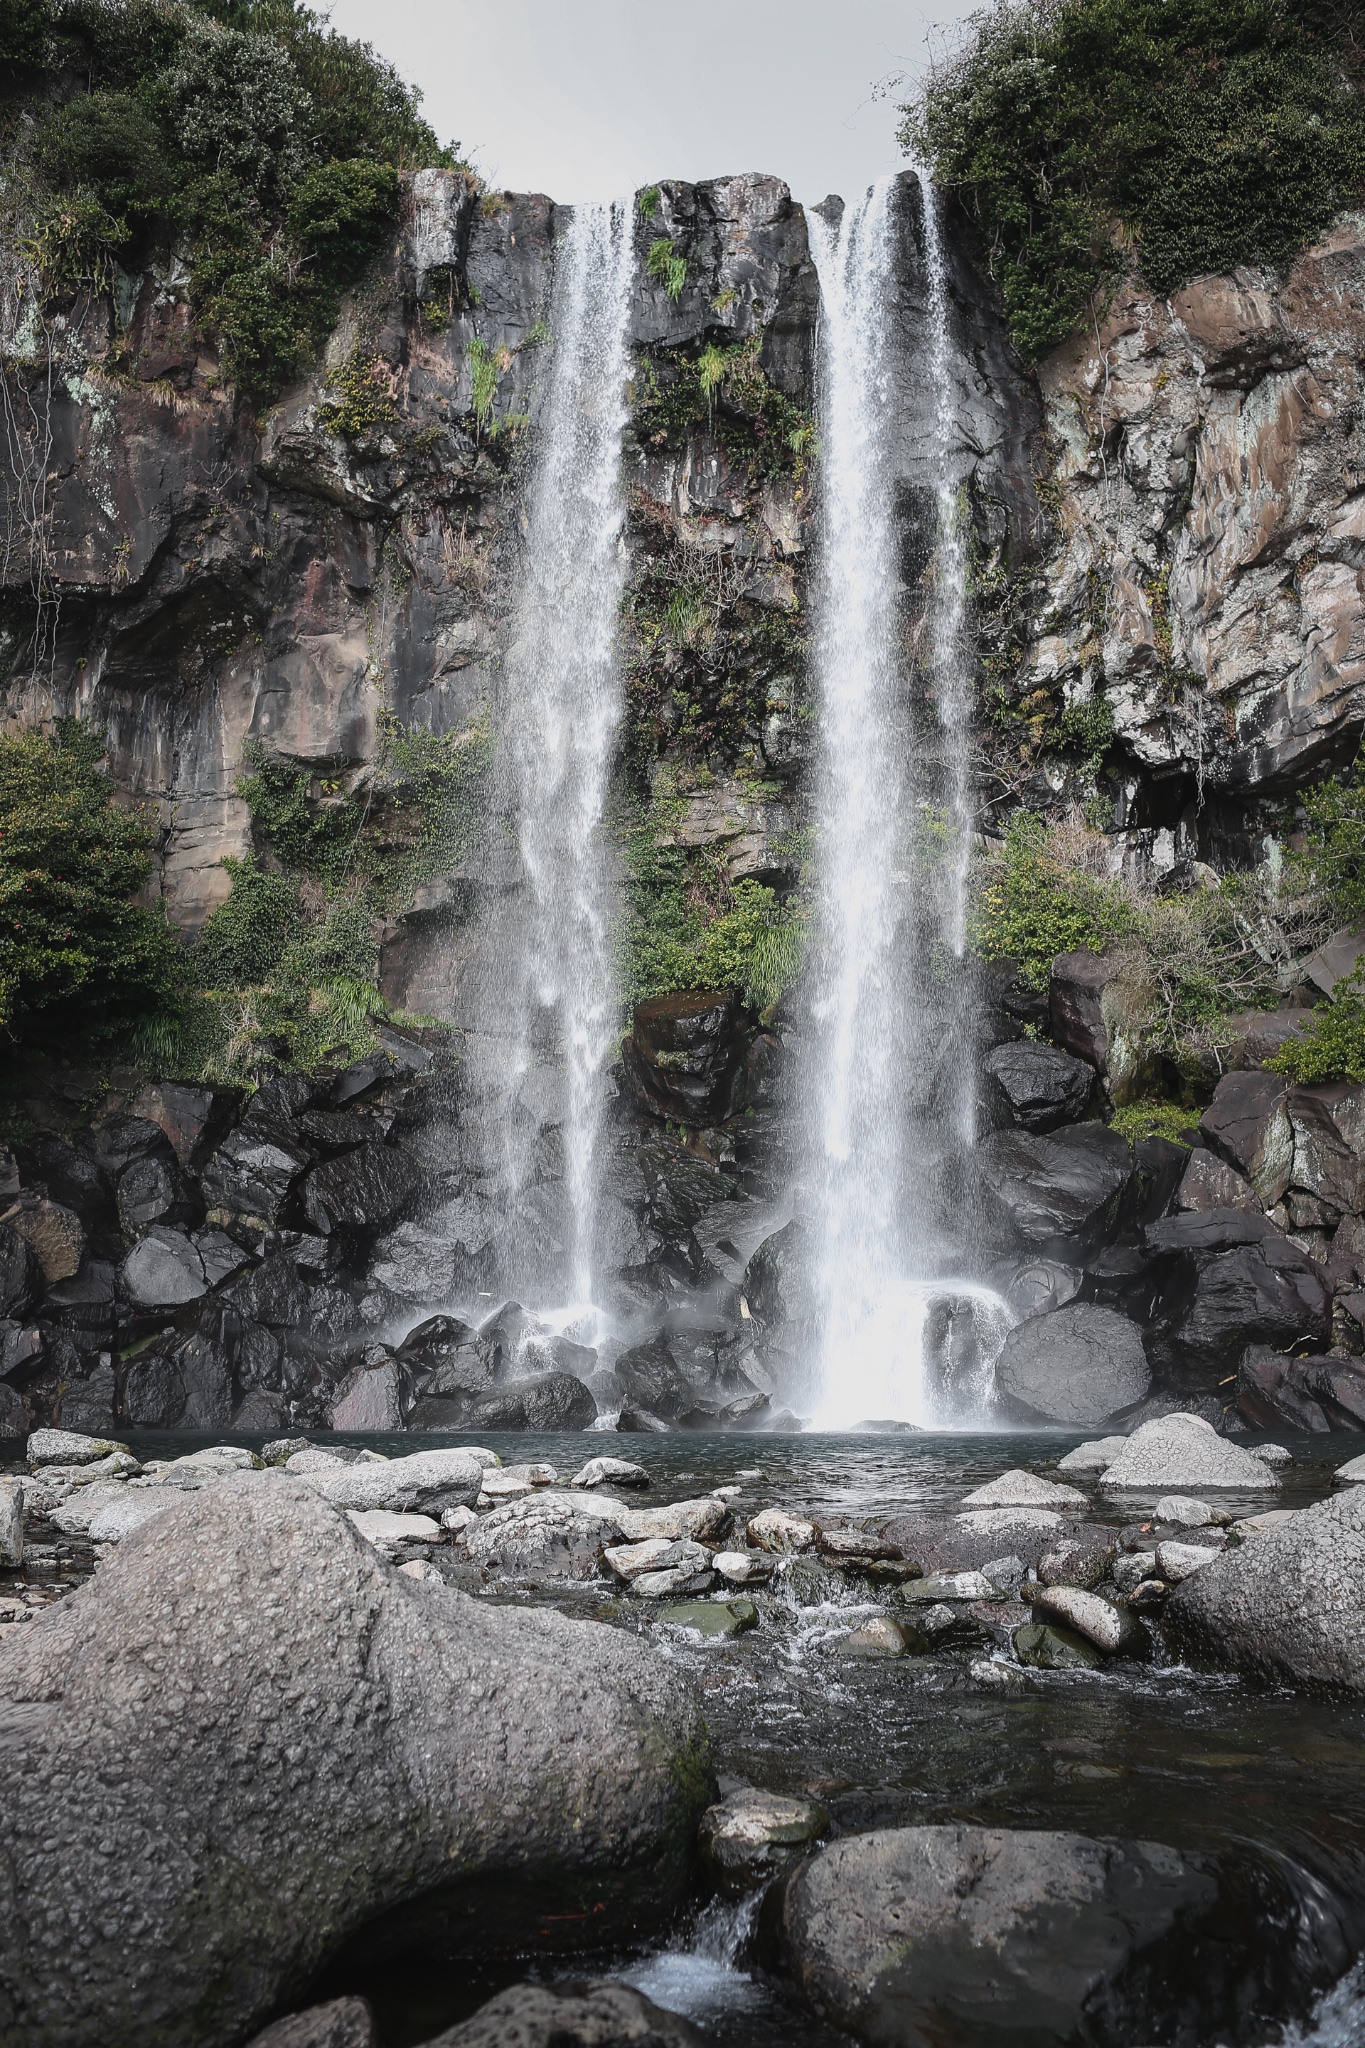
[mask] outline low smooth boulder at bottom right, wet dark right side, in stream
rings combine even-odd
[[[1166,2038],[1162,1972],[1216,1896],[1197,1862],[1156,1843],[907,1827],[804,1864],[782,1925],[800,1989],[866,2042],[1064,2042],[1093,2011],[1148,2040]]]

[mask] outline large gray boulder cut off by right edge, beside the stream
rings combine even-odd
[[[1365,1692],[1365,1489],[1351,1487],[1222,1550],[1164,1618],[1244,1671]]]

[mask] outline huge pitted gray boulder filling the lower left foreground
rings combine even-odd
[[[0,1731],[25,2048],[229,2048],[395,1907],[456,1952],[546,1911],[634,1933],[714,1796],[639,1640],[403,1577],[282,1473],[176,1501],[31,1622]]]

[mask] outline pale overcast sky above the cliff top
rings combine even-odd
[[[657,178],[767,170],[851,199],[905,162],[878,80],[978,0],[334,0],[422,86],[489,184],[616,199]]]

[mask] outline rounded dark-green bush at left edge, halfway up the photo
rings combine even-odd
[[[0,1030],[108,1038],[174,1010],[184,956],[151,877],[153,829],[100,768],[104,739],[65,721],[0,735]]]

